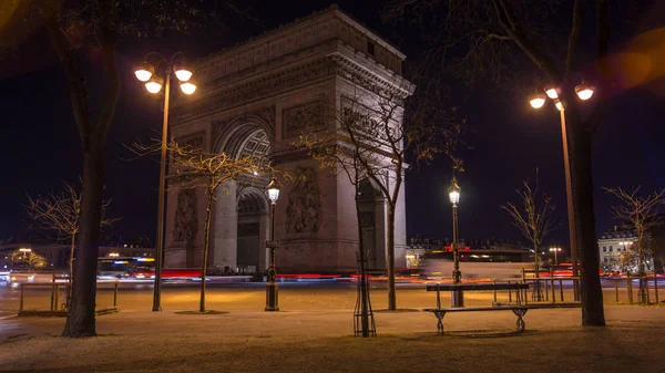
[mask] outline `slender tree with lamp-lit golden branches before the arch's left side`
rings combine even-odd
[[[134,144],[132,149],[139,155],[147,155],[158,152],[161,144],[155,144],[154,146]],[[198,304],[198,312],[205,313],[205,279],[209,252],[211,220],[217,188],[226,182],[243,177],[250,178],[255,175],[265,176],[277,173],[288,177],[288,174],[277,172],[268,164],[264,164],[255,157],[236,158],[224,152],[209,153],[200,147],[178,144],[175,139],[167,144],[167,152],[170,164],[175,170],[168,175],[171,182],[170,188],[193,189],[203,187],[207,196],[204,247],[201,263],[201,299]]]

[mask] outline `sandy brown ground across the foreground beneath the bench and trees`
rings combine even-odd
[[[607,328],[579,309],[531,310],[510,338],[511,312],[446,317],[377,312],[379,336],[352,338],[352,311],[121,312],[102,336],[65,340],[63,319],[0,320],[0,371],[17,372],[663,372],[665,308],[608,305]],[[456,336],[457,335],[457,336]]]

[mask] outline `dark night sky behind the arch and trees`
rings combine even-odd
[[[342,10],[389,40],[405,40],[400,30],[382,23],[380,1],[338,1]],[[108,234],[154,238],[158,164],[151,159],[127,160],[124,147],[136,139],[149,141],[161,131],[162,112],[156,96],[150,95],[134,79],[132,65],[149,51],[164,54],[184,51],[201,58],[222,46],[256,35],[282,23],[324,9],[328,1],[254,1],[258,22],[236,19],[231,33],[207,37],[175,34],[154,40],[125,40],[119,45],[122,92],[108,142],[109,168],[106,197],[113,200],[109,215],[122,217]],[[638,30],[662,28],[652,9],[638,21]],[[565,22],[570,24],[570,22]],[[631,40],[632,34],[620,34]],[[661,42],[664,39],[661,39]],[[423,43],[411,40],[399,45],[407,56],[421,52]],[[620,49],[621,45],[615,45]],[[661,48],[662,44],[661,44]],[[89,59],[94,66],[94,55]],[[25,229],[21,204],[25,193],[35,195],[59,189],[63,180],[74,183],[81,172],[81,152],[66,96],[62,69],[45,33],[37,30],[14,55],[0,62],[0,240]],[[96,86],[94,77],[91,87]],[[461,93],[462,94],[462,93]],[[466,93],[463,93],[466,94]],[[93,92],[94,95],[94,92]],[[499,206],[515,200],[514,189],[540,168],[541,185],[556,205],[560,226],[545,245],[567,247],[565,186],[559,113],[550,103],[533,111],[528,101],[497,95],[490,87],[477,89],[464,106],[473,128],[467,141],[473,147],[463,153],[467,172],[461,174],[460,236],[520,239]],[[617,93],[594,143],[594,184],[598,234],[617,225],[608,213],[612,198],[603,186],[645,190],[665,187],[665,84],[663,75],[651,84]],[[434,237],[450,237],[450,203],[446,193],[451,176],[450,163],[440,158],[407,178],[407,230]]]

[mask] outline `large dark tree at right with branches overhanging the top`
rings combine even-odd
[[[562,6],[564,3],[565,6]],[[634,4],[634,2],[630,2]],[[613,3],[622,11],[628,2]],[[605,325],[592,184],[592,138],[612,96],[608,1],[391,0],[386,15],[409,20],[431,48],[426,58],[469,83],[512,89],[524,82],[551,84],[565,115],[574,205],[574,239],[580,250],[582,324]],[[570,12],[562,23],[559,11]],[[595,15],[595,17],[593,17]],[[587,22],[595,22],[586,24]],[[593,55],[580,40],[595,42]],[[589,62],[592,62],[591,64]],[[530,69],[531,68],[531,69]],[[595,84],[594,103],[583,117],[575,87],[581,72]],[[533,91],[531,91],[533,92]]]

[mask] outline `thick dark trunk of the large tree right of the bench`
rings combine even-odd
[[[566,90],[566,96],[575,97],[572,87]],[[592,133],[583,127],[574,99],[565,100],[564,106],[573,186],[575,242],[581,262],[582,325],[604,327],[603,289],[598,273],[600,253],[593,206]]]

